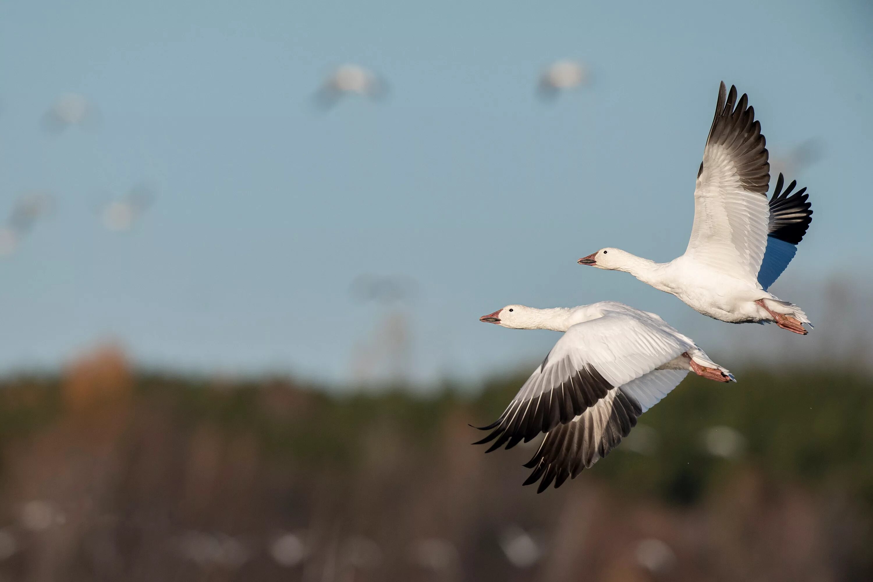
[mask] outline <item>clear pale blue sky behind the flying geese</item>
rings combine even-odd
[[[871,25],[849,1],[3,3],[0,215],[32,188],[57,208],[0,263],[0,369],[117,338],[151,366],[347,380],[384,313],[350,297],[361,273],[418,282],[402,309],[421,380],[540,359],[553,335],[478,322],[507,303],[622,300],[713,357],[801,346],[574,261],[684,251],[725,79],[772,155],[808,139],[825,154],[798,176],[815,220],[773,291],[800,302],[866,276]],[[558,58],[592,83],[543,103]],[[346,62],[384,75],[389,98],[317,112]],[[41,132],[63,92],[93,99],[100,127]],[[102,229],[100,200],[143,181],[154,207]]]

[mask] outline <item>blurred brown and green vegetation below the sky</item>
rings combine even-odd
[[[471,446],[524,380],[336,394],[135,370],[0,386],[0,579],[866,580],[873,380],[688,378],[558,490]]]

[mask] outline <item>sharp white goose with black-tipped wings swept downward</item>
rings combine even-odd
[[[506,305],[479,320],[565,332],[500,418],[482,427],[491,434],[474,443],[494,441],[490,453],[546,433],[525,465],[533,473],[524,484],[541,477],[540,493],[606,456],[689,371],[733,380],[662,318],[615,301],[556,309]]]

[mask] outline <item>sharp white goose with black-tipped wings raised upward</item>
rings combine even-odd
[[[629,272],[711,318],[774,322],[805,335],[807,314],[766,290],[794,258],[813,213],[806,188],[792,195],[792,181],[781,191],[782,175],[767,204],[768,154],[760,123],[747,104],[745,94],[737,102],[736,87],[726,92],[721,84],[694,190],[691,240],[682,257],[655,263],[606,248],[579,263]]]

